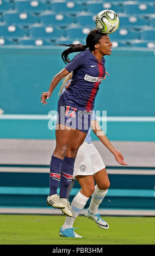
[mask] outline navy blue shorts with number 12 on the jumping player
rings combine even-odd
[[[57,111],[57,123],[73,129],[88,133],[92,118],[92,111],[77,110],[76,107],[64,105],[59,99]]]

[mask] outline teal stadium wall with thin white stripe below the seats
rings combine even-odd
[[[48,90],[53,76],[65,66],[61,59],[63,49],[58,46],[1,47],[0,108],[4,114],[0,115],[0,138],[55,138],[44,115],[57,109],[61,83],[47,105],[42,105],[40,96]],[[114,48],[111,56],[105,58],[109,76],[100,85],[95,110],[101,114],[107,111],[109,139],[154,141],[154,51]],[[92,135],[92,139],[96,136]]]

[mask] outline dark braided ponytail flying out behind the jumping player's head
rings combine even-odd
[[[61,53],[61,58],[63,59],[65,64],[68,64],[70,62],[70,58],[68,57],[70,53],[72,52],[83,52],[86,50],[87,46],[82,45],[82,44],[77,44],[77,45],[66,45],[66,44],[61,44],[62,46],[69,46],[65,51]]]

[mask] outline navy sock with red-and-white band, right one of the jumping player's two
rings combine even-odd
[[[69,186],[73,178],[75,158],[64,157],[63,164],[61,166],[61,183],[60,183],[60,198],[67,198]]]

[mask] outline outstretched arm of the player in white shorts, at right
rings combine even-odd
[[[94,131],[95,135],[100,139],[100,141],[106,146],[106,148],[108,148],[111,151],[111,153],[113,153],[116,161],[120,164],[127,165],[127,163],[123,159],[121,152],[114,148],[114,146],[111,144],[107,136],[101,130],[100,124],[97,120],[91,121],[91,129],[92,131]]]

